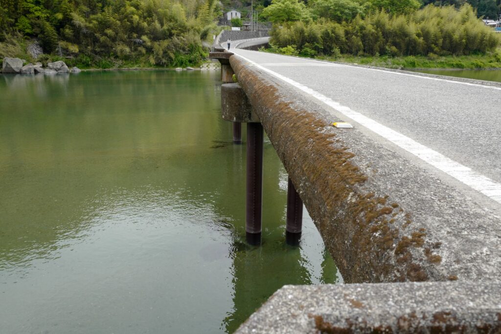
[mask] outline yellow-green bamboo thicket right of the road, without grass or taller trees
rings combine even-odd
[[[380,10],[364,18],[357,14],[351,20],[336,21],[328,12],[325,15],[319,15],[322,12],[315,9],[312,12],[309,17],[303,13],[302,19],[277,23],[271,33],[272,45],[281,53],[307,57],[339,54],[433,57],[484,54],[500,44],[501,34],[485,27],[469,4],[459,9],[428,5],[401,14]]]

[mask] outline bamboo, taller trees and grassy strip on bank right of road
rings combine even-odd
[[[406,0],[389,10],[379,0],[313,0],[310,7],[275,1],[265,10],[276,23],[271,52],[391,68],[501,67],[501,34],[485,27],[469,4],[417,9],[419,3]],[[294,14],[275,15],[273,6],[287,2]]]

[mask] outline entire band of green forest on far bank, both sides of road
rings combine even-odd
[[[257,0],[272,43],[304,56],[471,55],[492,52],[501,0]],[[426,5],[434,5],[433,7]],[[0,58],[64,60],[82,68],[185,67],[203,61],[216,19],[246,0],[0,0]],[[281,50],[284,49],[285,50]],[[501,57],[501,56],[500,56]]]

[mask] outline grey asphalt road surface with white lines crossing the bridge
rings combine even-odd
[[[476,192],[476,197],[496,207],[501,204],[501,85],[230,51],[292,85],[302,85],[301,94],[329,100],[333,115],[389,142],[388,147],[426,165],[462,191]],[[350,113],[369,121],[350,118]],[[377,124],[391,131],[378,131]],[[406,144],[399,144],[402,139],[393,140],[395,133],[408,138],[417,153],[406,151]],[[441,156],[448,167],[441,168]]]

